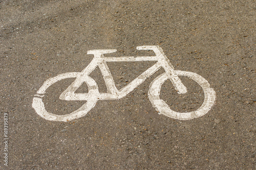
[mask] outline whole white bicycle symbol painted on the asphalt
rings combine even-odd
[[[86,115],[95,105],[98,100],[117,100],[126,96],[128,93],[137,88],[141,83],[143,83],[148,77],[152,76],[160,68],[164,68],[165,72],[158,76],[150,85],[148,90],[148,98],[150,99],[152,105],[156,108],[159,114],[165,116],[187,120],[205,115],[215,103],[216,94],[213,88],[210,88],[210,84],[202,76],[189,71],[175,70],[173,65],[164,55],[164,52],[159,46],[138,46],[137,50],[153,50],[156,56],[142,56],[142,57],[104,57],[103,54],[114,53],[117,50],[89,50],[87,54],[93,54],[94,58],[91,63],[84,68],[81,72],[67,72],[64,74],[57,75],[56,77],[49,78],[44,84],[39,88],[37,94],[33,98],[32,107],[35,109],[36,113],[42,118],[53,121],[63,121],[67,122],[79,117]],[[144,71],[140,76],[134,79],[132,82],[127,84],[125,87],[118,90],[115,86],[114,79],[111,75],[110,69],[106,62],[122,62],[122,61],[157,61],[153,66]],[[96,82],[89,76],[91,72],[99,66],[101,74],[106,84],[107,92],[100,93]],[[182,84],[178,76],[186,76],[194,81],[196,81],[204,91],[204,102],[200,108],[196,111],[191,112],[176,112],[171,110],[169,106],[160,99],[161,85],[169,79],[175,89],[180,94],[187,92],[186,87]],[[48,112],[45,109],[44,94],[48,87],[52,84],[68,78],[76,78],[75,81],[63,91],[59,99],[66,101],[87,101],[79,109],[73,111],[72,113],[66,115],[57,115]],[[75,91],[85,82],[88,85],[87,93],[75,93]]]

